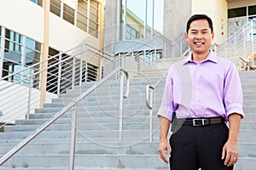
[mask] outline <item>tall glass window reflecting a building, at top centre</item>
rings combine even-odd
[[[154,31],[163,32],[164,0],[122,0],[123,39],[150,37]],[[131,30],[137,32],[132,36]]]

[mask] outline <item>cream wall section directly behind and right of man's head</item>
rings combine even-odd
[[[226,0],[192,0],[192,14],[207,14],[213,22],[215,37],[212,42],[220,44],[227,37],[227,8]]]

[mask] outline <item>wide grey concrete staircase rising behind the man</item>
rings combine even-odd
[[[160,61],[161,62],[161,61]],[[166,64],[157,64],[159,65]],[[168,64],[167,64],[168,65]],[[167,68],[167,66],[165,67]],[[123,141],[119,141],[119,82],[110,81],[87,96],[78,109],[75,169],[169,169],[158,156],[159,122],[154,116],[154,130],[149,134],[149,111],[145,105],[145,88],[159,76],[145,71],[144,77],[131,80],[131,94],[124,100]],[[256,166],[256,71],[241,71],[245,119],[241,122],[240,158],[236,170],[253,170]],[[154,90],[154,115],[160,106],[165,78]],[[46,122],[93,82],[69,90],[59,99],[37,109],[30,120],[17,120],[15,126],[0,133],[0,155],[11,150],[40,124]],[[68,111],[32,143],[26,145],[0,169],[66,170],[69,165],[71,114]],[[153,142],[149,136],[153,135]]]

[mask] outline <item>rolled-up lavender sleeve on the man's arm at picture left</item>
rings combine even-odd
[[[173,82],[172,82],[172,68],[169,69],[166,77],[166,85],[163,91],[162,101],[160,109],[157,112],[157,116],[164,116],[172,121],[173,113]]]

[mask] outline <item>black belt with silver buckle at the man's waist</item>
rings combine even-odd
[[[177,119],[178,121],[182,121]],[[190,125],[194,127],[206,126],[211,124],[224,123],[223,117],[210,117],[210,118],[187,118],[183,120],[183,125]]]

